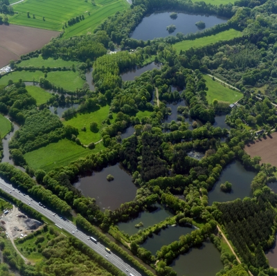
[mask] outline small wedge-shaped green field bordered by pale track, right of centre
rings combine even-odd
[[[243,96],[239,91],[234,91],[229,89],[228,86],[223,86],[220,82],[213,80],[208,75],[204,75],[204,79],[206,80],[206,86],[208,87],[206,98],[209,104],[212,104],[214,99],[232,103],[236,102]]]

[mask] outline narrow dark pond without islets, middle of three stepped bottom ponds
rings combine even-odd
[[[173,241],[178,241],[182,234],[188,234],[193,230],[195,228],[168,226],[166,229],[161,229],[159,234],[153,234],[152,237],[148,237],[141,246],[149,250],[152,255],[155,255],[157,250],[160,250],[162,246],[168,246]]]

